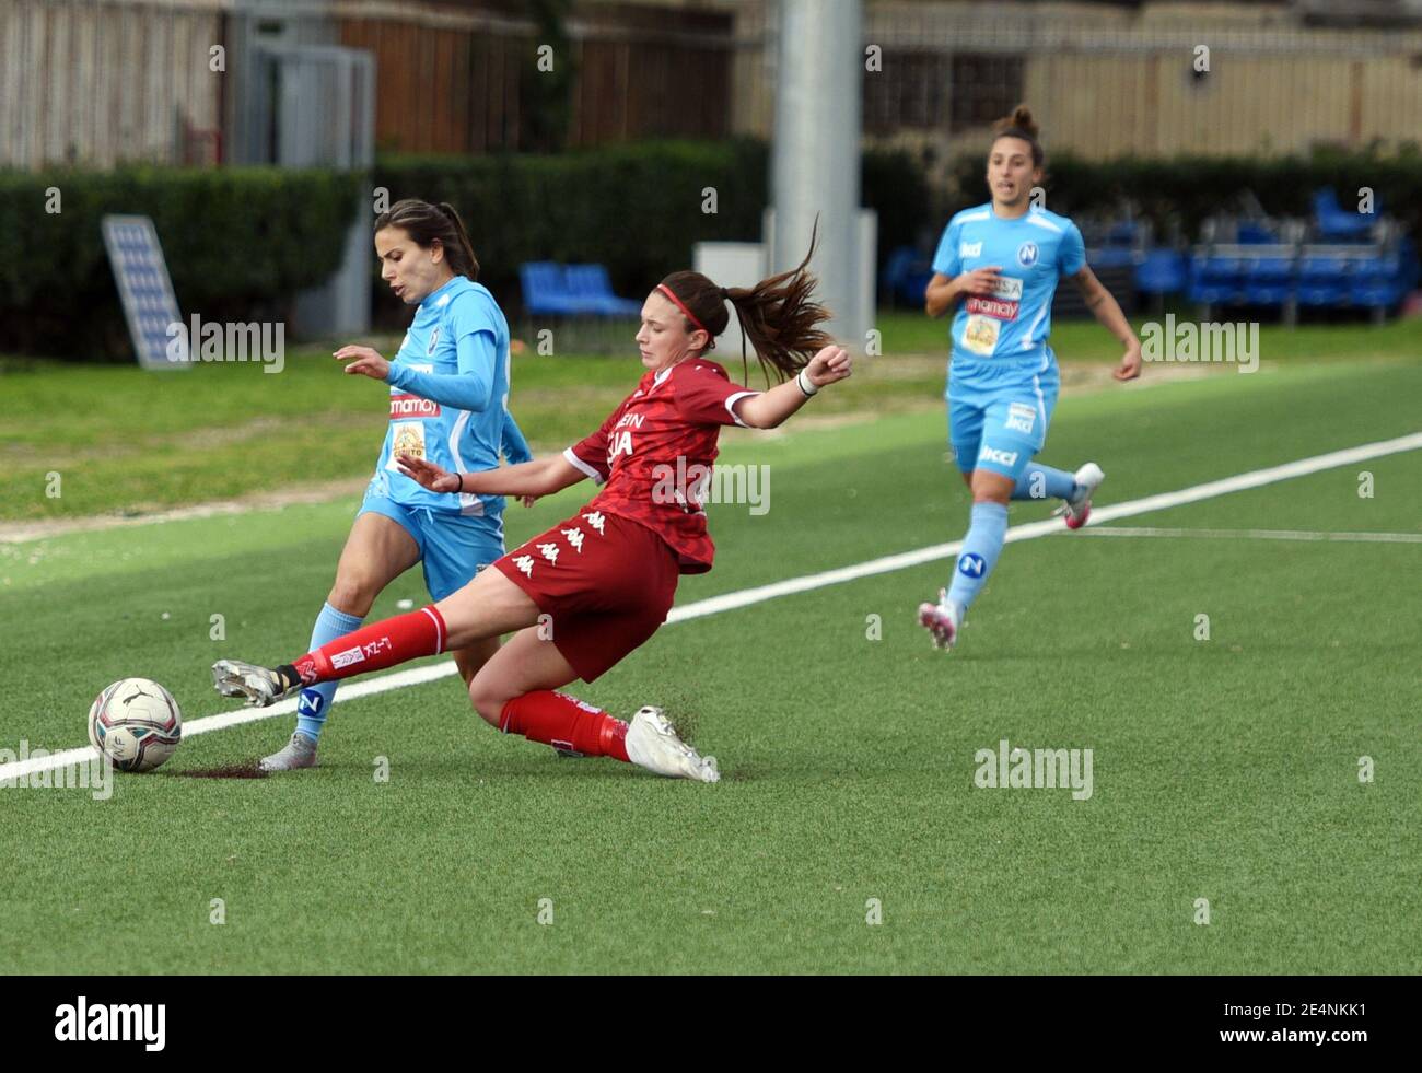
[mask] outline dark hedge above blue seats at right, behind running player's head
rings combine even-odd
[[[948,210],[988,198],[981,158],[963,158],[953,168]],[[1068,153],[1047,158],[1042,186],[1047,207],[1066,216],[1113,215],[1135,202],[1158,236],[1177,226],[1186,239],[1199,237],[1210,216],[1229,212],[1243,190],[1251,190],[1271,216],[1308,219],[1314,190],[1331,186],[1345,209],[1357,206],[1358,190],[1372,189],[1378,207],[1395,216],[1422,243],[1422,155],[1376,151],[1344,153],[1317,151],[1308,156],[1176,156],[1084,161]]]

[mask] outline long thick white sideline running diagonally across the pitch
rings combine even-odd
[[[1101,522],[1111,522],[1118,517],[1132,517],[1152,510],[1165,510],[1166,507],[1183,506],[1186,503],[1199,503],[1202,499],[1213,499],[1230,492],[1263,487],[1264,485],[1274,485],[1280,480],[1290,480],[1293,478],[1318,473],[1325,469],[1348,466],[1355,462],[1367,462],[1368,459],[1384,458],[1385,455],[1398,455],[1404,451],[1416,451],[1419,448],[1422,448],[1422,432],[1413,432],[1406,436],[1398,436],[1396,439],[1384,439],[1376,443],[1362,443],[1357,448],[1331,451],[1327,455],[1315,455],[1313,458],[1298,459],[1297,462],[1284,462],[1278,466],[1254,469],[1249,473],[1237,473],[1236,476],[1221,478],[1220,480],[1207,480],[1203,485],[1193,485],[1177,492],[1160,492],[1155,496],[1132,499],[1125,503],[1111,503],[1091,512],[1088,530],[1089,526],[1095,526]],[[1035,537],[1061,532],[1061,519],[1054,517],[1042,522],[1028,522],[1008,529],[1007,543],[1032,540]],[[766,600],[776,600],[782,595],[808,593],[813,588],[825,588],[826,586],[836,586],[843,581],[857,581],[862,577],[889,574],[896,570],[907,570],[909,567],[923,566],[924,563],[936,563],[940,559],[956,556],[961,547],[961,540],[950,540],[946,544],[931,544],[930,547],[920,547],[914,551],[900,551],[893,556],[870,559],[866,563],[856,563],[855,566],[825,570],[818,574],[805,574],[803,577],[791,577],[768,586],[742,588],[738,593],[725,593],[722,595],[708,597],[707,600],[697,600],[695,603],[671,608],[671,614],[667,615],[667,622],[684,622],[688,618],[704,618],[705,615],[720,614],[721,611],[732,611],[735,608],[749,607],[751,604],[759,604]],[[432,682],[437,678],[448,678],[454,674],[458,674],[458,668],[452,661],[429,667],[417,667],[414,669],[395,671],[394,674],[343,685],[336,694],[333,703],[356,701],[361,696],[384,694],[391,689],[402,689],[407,685]],[[228,726],[240,726],[242,723],[256,722],[257,719],[269,719],[274,715],[289,715],[294,711],[296,698],[293,696],[286,701],[280,701],[270,708],[239,708],[235,712],[222,712],[220,715],[209,715],[202,719],[193,719],[183,723],[182,732],[183,738],[191,738],[199,733],[222,730]],[[0,779],[16,779],[30,775],[31,772],[53,770],[55,767],[64,767],[65,765],[90,760],[94,756],[94,748],[84,746],[82,749],[65,749],[64,752],[38,759],[31,757],[27,760],[14,760],[11,763],[0,765]]]

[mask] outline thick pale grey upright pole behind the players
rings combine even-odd
[[[771,188],[775,233],[771,270],[793,269],[809,249],[828,325],[842,343],[865,345],[856,213],[859,210],[860,0],[779,0],[775,142]]]

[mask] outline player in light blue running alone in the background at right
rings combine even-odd
[[[1116,379],[1140,375],[1140,344],[1111,293],[1086,267],[1081,232],[1065,216],[1031,205],[1042,179],[1037,124],[1018,107],[998,125],[987,162],[993,200],[954,216],[933,259],[930,317],[958,306],[948,365],[948,439],[973,490],[973,516],[953,581],[919,622],[951,648],[968,605],[987,583],[1007,536],[1010,499],[1061,499],[1078,529],[1105,473],[1088,462],[1075,473],[1034,462],[1057,405],[1057,355],[1047,345],[1057,281],[1071,276],[1086,306],[1125,347]]]

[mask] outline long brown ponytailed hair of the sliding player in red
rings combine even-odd
[[[658,290],[670,290],[684,310],[695,317],[695,324],[690,318],[685,321],[688,333],[704,328],[711,335],[708,350],[715,347],[715,337],[731,323],[725,311],[725,303],[729,301],[766,381],[774,375],[781,382],[805,368],[820,348],[835,341],[818,327],[830,318],[830,313],[812,298],[818,280],[805,269],[813,253],[812,234],[809,253],[798,267],[761,280],[754,287],[720,287],[700,271],[674,271],[658,284]],[[744,340],[741,360],[745,360]]]

